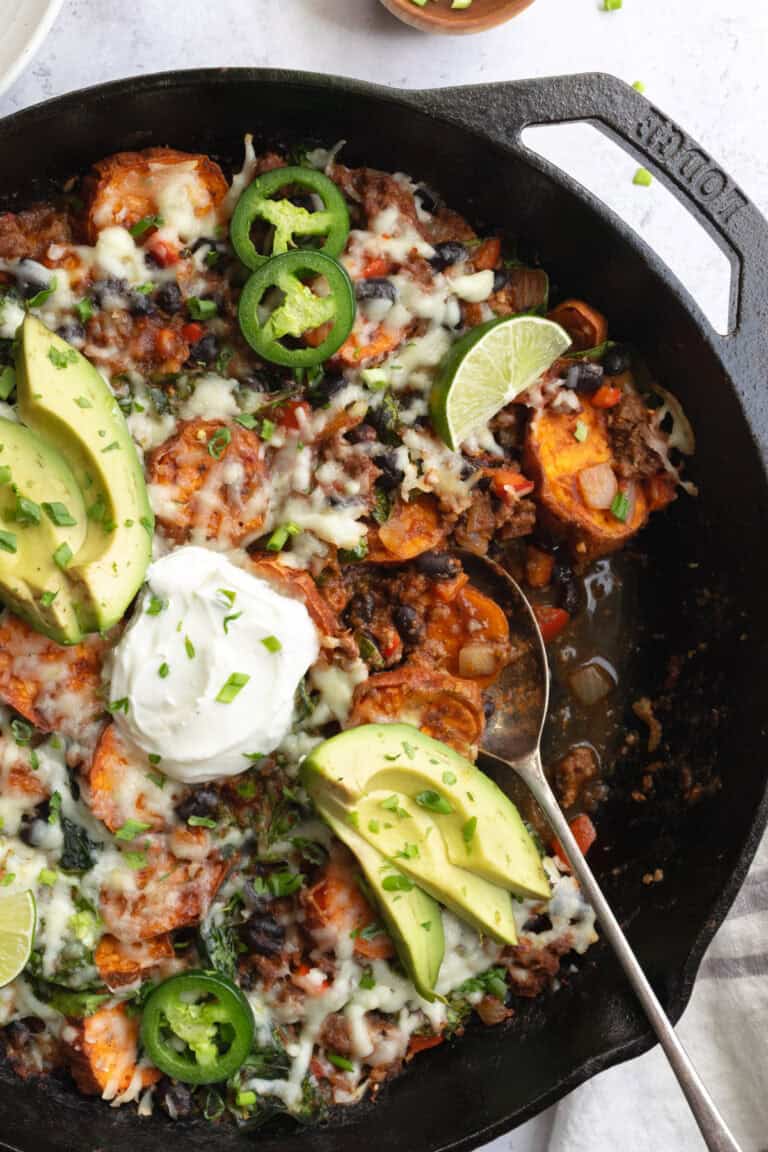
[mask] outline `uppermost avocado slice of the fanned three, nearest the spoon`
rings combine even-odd
[[[549,899],[535,844],[509,797],[470,760],[418,728],[362,725],[318,744],[305,764],[347,809],[372,791],[423,797],[427,804],[436,794],[443,811],[434,804],[425,811],[440,829],[451,864],[524,899]]]

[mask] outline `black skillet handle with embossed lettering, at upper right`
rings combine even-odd
[[[647,165],[728,256],[732,268],[731,333],[713,336],[721,341],[721,351],[731,361],[739,382],[748,380],[750,391],[763,393],[768,222],[707,152],[663,112],[629,84],[603,73],[404,94],[418,96],[421,108],[491,136],[549,175],[557,168],[525,146],[524,128],[588,121]],[[586,189],[579,191],[593,199]]]

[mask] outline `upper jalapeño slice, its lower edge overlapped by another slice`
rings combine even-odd
[[[286,188],[301,188],[314,194],[322,209],[313,211],[294,204],[276,194]],[[261,225],[264,251],[251,240],[251,229]],[[271,256],[280,256],[298,248],[303,240],[324,238],[322,244],[310,250],[339,256],[349,235],[349,212],[344,197],[333,180],[314,168],[274,168],[257,176],[238,199],[229,228],[233,248],[243,264],[260,268]]]

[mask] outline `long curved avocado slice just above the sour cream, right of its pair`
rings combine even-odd
[[[123,414],[84,356],[28,316],[16,355],[22,420],[67,460],[88,530],[67,575],[83,604],[83,630],[116,623],[151,559],[154,520],[144,470]]]

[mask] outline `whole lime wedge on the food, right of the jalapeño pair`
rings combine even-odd
[[[541,316],[489,320],[457,340],[432,386],[438,434],[456,450],[562,356],[570,336]]]

